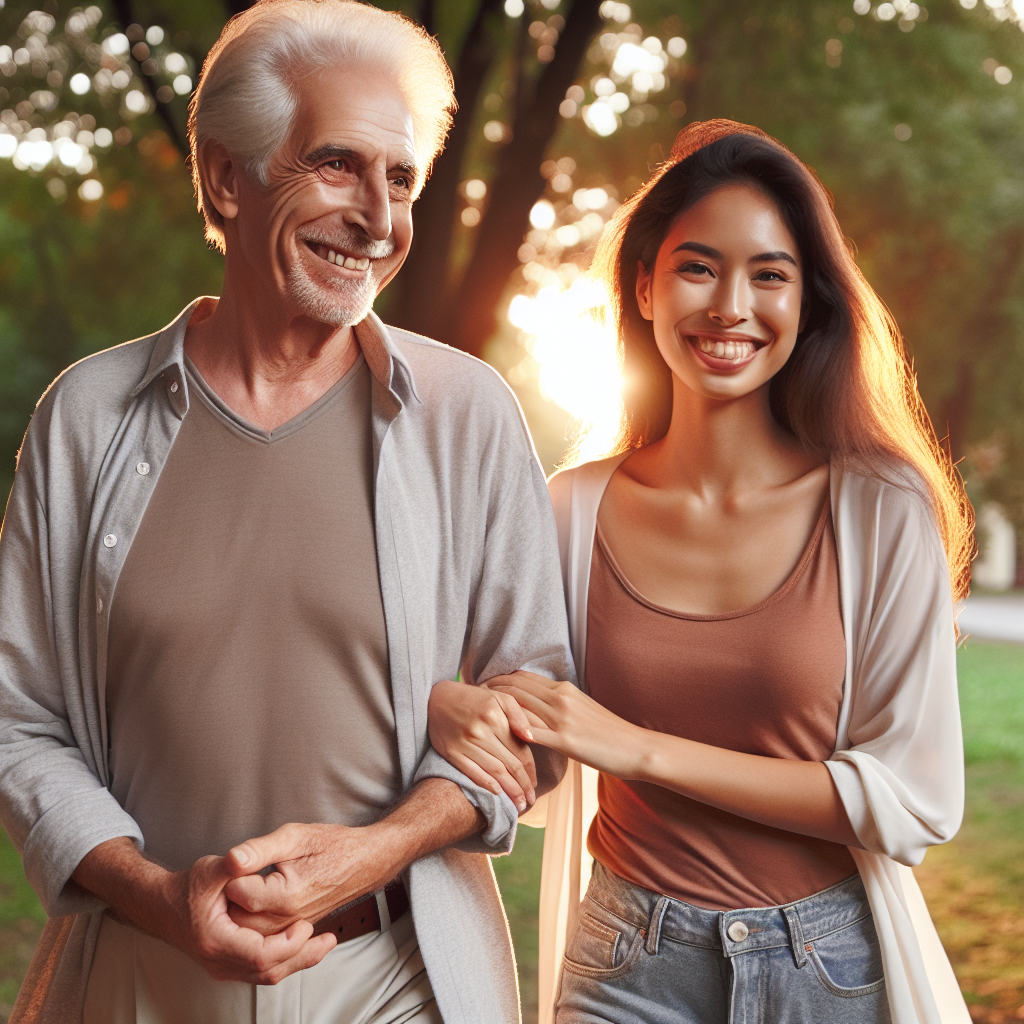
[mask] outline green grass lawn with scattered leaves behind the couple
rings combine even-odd
[[[916,869],[975,1021],[1024,1019],[1024,646],[969,641],[958,655],[967,756],[959,835]],[[544,833],[521,828],[495,874],[516,947],[523,1021],[537,1020],[537,912]],[[0,831],[0,1021],[39,935],[42,909]]]

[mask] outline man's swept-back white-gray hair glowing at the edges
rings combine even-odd
[[[223,221],[206,197],[199,147],[208,138],[245,160],[261,184],[292,127],[295,84],[328,68],[370,66],[397,83],[413,116],[422,178],[452,126],[452,72],[436,40],[402,14],[356,0],[259,0],[232,17],[203,65],[188,113],[193,182],[207,240],[223,251]]]

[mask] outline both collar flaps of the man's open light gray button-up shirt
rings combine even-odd
[[[144,376],[132,391],[132,398],[144,391],[158,377],[173,372],[181,391],[180,400],[177,400],[175,404],[179,415],[184,416],[188,408],[184,368],[185,329],[188,327],[188,321],[191,319],[197,306],[207,300],[217,301],[211,296],[200,296],[200,298],[189,302],[160,332],[153,347],[153,354],[150,356],[150,365],[146,367]],[[420,401],[416,382],[413,379],[413,371],[391,337],[391,332],[388,331],[381,318],[371,310],[365,319],[355,325],[353,331],[356,343],[367,360],[367,366],[376,380],[399,401],[407,398]],[[175,392],[176,394],[177,392]]]

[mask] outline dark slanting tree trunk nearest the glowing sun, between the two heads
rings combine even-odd
[[[501,152],[490,182],[490,205],[477,231],[473,254],[456,293],[453,343],[479,355],[494,334],[497,306],[529,223],[529,211],[544,194],[541,161],[558,127],[558,106],[572,84],[600,24],[599,0],[575,0],[555,49],[541,73],[530,102],[520,102],[512,141]]]

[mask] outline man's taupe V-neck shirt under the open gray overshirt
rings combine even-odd
[[[370,372],[272,432],[193,401],[111,608],[111,792],[174,869],[289,821],[364,825],[401,779]]]

